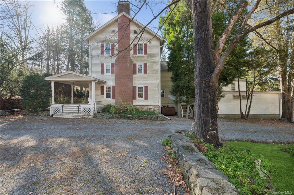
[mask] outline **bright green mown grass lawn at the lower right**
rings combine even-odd
[[[274,191],[294,191],[294,156],[280,150],[285,147],[284,145],[250,142],[228,142],[227,144],[263,155],[277,167],[277,172],[271,178]]]

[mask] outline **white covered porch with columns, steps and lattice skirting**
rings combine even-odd
[[[51,81],[51,104],[50,104],[50,115],[56,115],[55,117],[62,117],[67,115],[72,116],[93,116],[96,111],[101,111],[104,107],[103,104],[96,104],[95,102],[95,85],[105,84],[106,81],[97,79],[95,77],[90,77],[73,71],[66,71],[50,77],[46,77],[45,80]],[[71,85],[71,103],[70,104],[55,104],[55,91],[54,83],[63,83]],[[74,104],[74,86],[85,88],[85,97],[87,94],[87,89],[91,88],[89,91],[89,96],[91,92],[91,97],[89,97],[87,103],[76,103]],[[58,116],[57,116],[58,115]],[[70,118],[80,118],[80,117],[70,117]]]

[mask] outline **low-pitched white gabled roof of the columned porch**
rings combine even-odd
[[[54,81],[64,84],[74,84],[79,87],[89,87],[89,83],[92,81],[97,81],[97,83],[106,83],[106,81],[97,79],[95,77],[90,77],[84,74],[80,74],[73,71],[66,71],[59,74],[55,74],[49,77],[45,77],[45,80]]]

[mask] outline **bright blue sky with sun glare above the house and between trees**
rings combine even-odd
[[[138,1],[131,1],[133,4],[138,4]],[[49,24],[49,26],[54,26],[61,24],[64,21],[64,16],[61,11],[57,8],[57,4],[61,3],[61,1],[29,1],[32,6],[31,8],[31,16],[32,22],[35,26],[39,28],[43,28]],[[117,15],[116,6],[118,1],[84,1],[86,7],[93,12],[93,20],[100,21],[100,25],[103,25],[111,18]],[[161,9],[166,6],[166,1],[149,1],[149,5],[152,7],[153,13],[156,15]],[[115,13],[110,13],[115,12]],[[105,14],[95,14],[95,13],[105,13]],[[163,12],[164,14],[165,12]],[[131,14],[132,15],[132,14]],[[144,6],[141,11],[137,14],[136,20],[143,24],[147,24],[152,18],[153,14],[149,7]],[[157,32],[156,27],[158,27],[158,19],[156,18],[149,28]],[[36,31],[33,30],[34,34]],[[160,32],[158,32],[161,34]],[[34,36],[32,34],[31,36]]]

